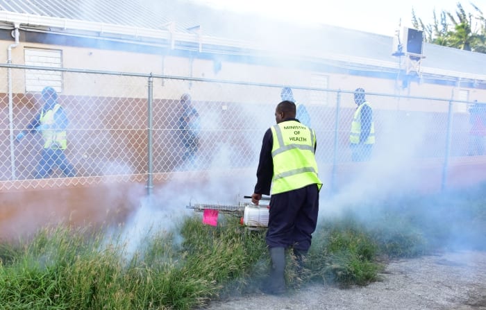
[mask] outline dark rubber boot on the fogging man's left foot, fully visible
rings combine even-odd
[[[270,248],[270,258],[270,277],[262,289],[271,295],[285,294],[285,248]]]

